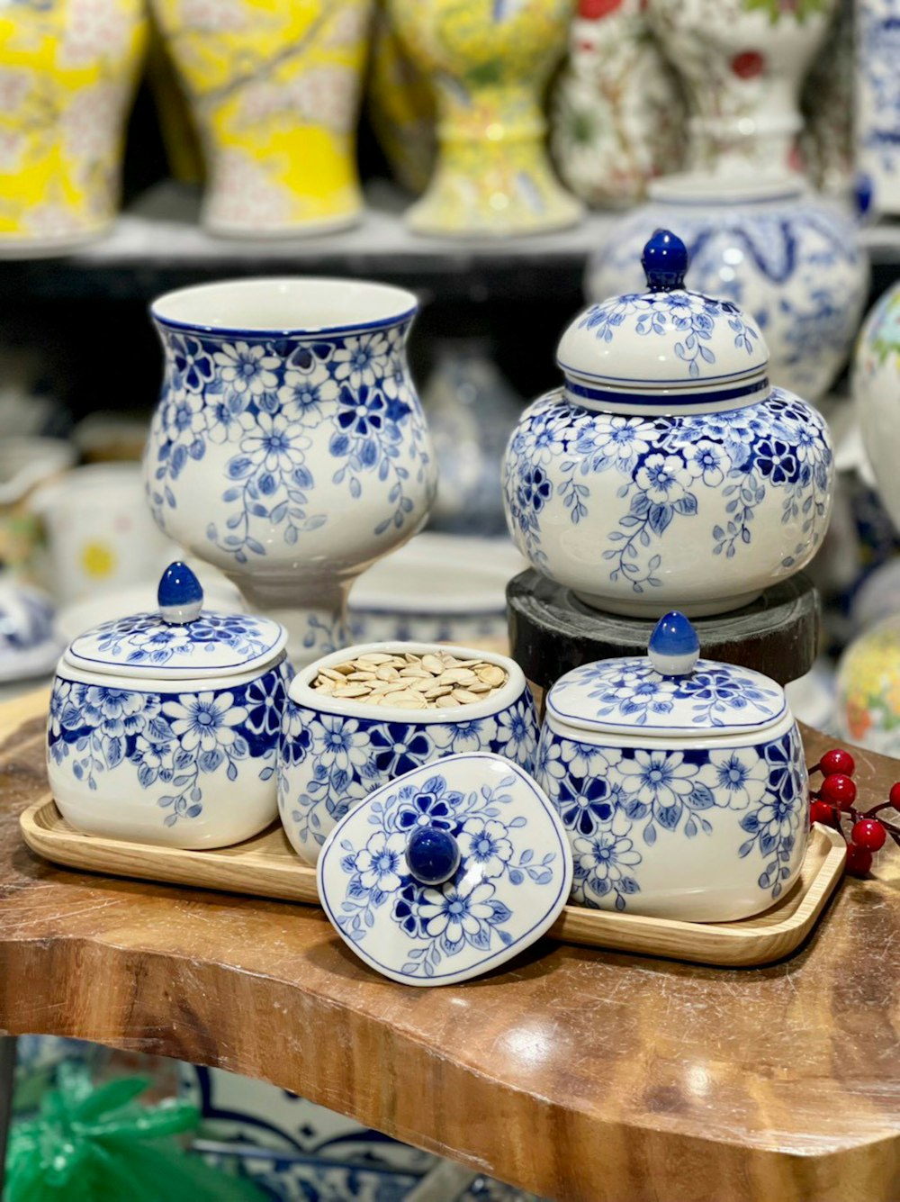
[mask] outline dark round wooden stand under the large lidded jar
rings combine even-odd
[[[512,656],[542,689],[582,664],[645,655],[655,625],[591,609],[535,571],[509,581],[506,600]],[[816,659],[818,611],[816,589],[800,573],[744,609],[696,618],[693,625],[704,659],[739,664],[787,684],[809,672]]]

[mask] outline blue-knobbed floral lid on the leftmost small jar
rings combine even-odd
[[[186,564],[169,564],[156,595],[155,613],[94,626],[70,643],[65,662],[157,680],[234,676],[261,667],[287,642],[285,627],[270,618],[204,609],[203,589]]]

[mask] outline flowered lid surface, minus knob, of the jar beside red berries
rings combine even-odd
[[[567,672],[550,690],[561,719],[604,726],[758,726],[781,714],[785,694],[756,672],[698,660],[681,677],[661,676],[645,657],[600,660]]]

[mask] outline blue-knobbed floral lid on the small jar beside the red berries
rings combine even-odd
[[[586,731],[666,736],[738,734],[777,722],[785,690],[769,677],[699,659],[697,632],[677,609],[656,624],[648,655],[598,660],[550,689],[547,712]]]

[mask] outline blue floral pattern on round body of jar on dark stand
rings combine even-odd
[[[595,508],[594,482],[604,500],[610,492],[606,474],[618,512]],[[662,585],[684,538],[707,540],[711,569],[717,557],[739,555],[770,499],[785,529],[773,566],[797,571],[828,526],[832,474],[823,418],[779,388],[744,409],[645,418],[597,413],[554,392],[526,410],[511,440],[505,492],[513,537],[544,575],[556,578],[544,522],[553,542],[560,522],[589,522],[591,531],[603,523],[596,554],[610,584],[644,594]]]

